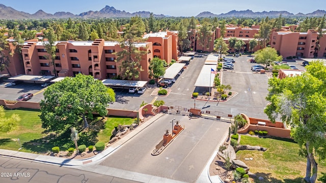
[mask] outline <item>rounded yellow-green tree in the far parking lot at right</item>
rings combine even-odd
[[[267,47],[261,50],[258,50],[254,53],[255,61],[258,64],[265,64],[267,68],[267,64],[273,61],[281,61],[283,58],[279,56],[275,48]]]

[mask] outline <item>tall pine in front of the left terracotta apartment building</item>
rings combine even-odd
[[[116,62],[119,63],[119,71],[123,74],[123,79],[131,80],[138,78],[141,71],[142,55],[146,54],[145,51],[138,49],[134,45],[136,40],[137,32],[139,29],[133,25],[130,27],[129,32],[125,35],[125,39],[120,43],[122,51],[116,52]],[[133,57],[132,57],[133,55]]]

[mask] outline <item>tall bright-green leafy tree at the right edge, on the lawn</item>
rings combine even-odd
[[[315,158],[326,157],[326,66],[311,62],[301,76],[268,80],[266,100],[271,103],[264,112],[271,121],[280,116],[291,126],[291,137],[307,158],[306,182],[316,182],[318,164]]]

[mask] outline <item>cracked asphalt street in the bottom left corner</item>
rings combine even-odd
[[[0,182],[17,183],[131,183],[136,181],[113,176],[97,174],[89,171],[46,165],[25,160],[0,158]]]

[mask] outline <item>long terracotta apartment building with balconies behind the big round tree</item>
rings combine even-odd
[[[118,42],[104,41],[58,41],[55,64],[49,64],[43,42],[26,42],[22,48],[23,66],[26,75],[55,75],[58,77],[75,76],[78,73],[92,75],[95,79],[112,78],[120,74],[119,63],[114,60],[115,52],[122,51]],[[136,43],[135,47],[146,51],[142,55],[137,80],[149,80],[148,66],[153,58],[150,42]]]

